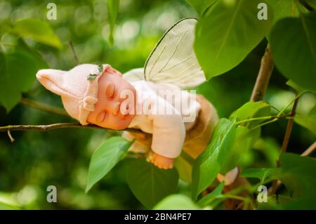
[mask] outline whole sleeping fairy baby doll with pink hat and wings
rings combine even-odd
[[[193,159],[205,149],[218,122],[213,105],[194,88],[205,81],[193,51],[193,18],[176,22],[160,39],[144,68],[121,75],[110,65],[84,64],[70,71],[39,70],[37,79],[61,96],[80,124],[124,131],[129,150],[150,154],[160,169],[173,168],[182,150]]]

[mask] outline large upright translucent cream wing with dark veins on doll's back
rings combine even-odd
[[[164,34],[145,63],[145,79],[192,88],[206,81],[193,50],[197,19],[176,22]]]

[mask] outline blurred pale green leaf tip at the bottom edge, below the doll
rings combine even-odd
[[[153,209],[156,210],[197,210],[200,209],[185,195],[170,195],[159,202]]]

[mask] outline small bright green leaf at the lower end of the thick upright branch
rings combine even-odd
[[[266,102],[258,101],[245,103],[242,107],[235,110],[235,112],[232,112],[230,119],[237,119],[238,122],[246,119],[266,116],[270,116],[270,105]],[[263,121],[264,119],[248,121],[242,125],[251,129],[258,124],[261,124]]]

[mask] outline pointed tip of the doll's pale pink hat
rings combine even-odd
[[[65,71],[62,70],[39,70],[37,79],[49,91],[65,95],[65,90],[62,88],[64,74]]]

